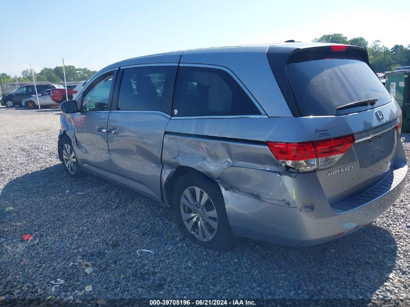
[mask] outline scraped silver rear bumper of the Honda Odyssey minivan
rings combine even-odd
[[[355,199],[369,197],[369,191],[377,189],[377,185],[384,185],[384,190],[378,189],[378,194],[373,193],[373,198],[355,208],[347,207],[354,199],[346,207],[331,207],[314,173],[291,178],[270,171],[229,167],[217,181],[233,233],[256,240],[309,246],[361,228],[388,210],[404,189],[408,167],[401,144],[397,149],[400,153],[397,152],[391,173]]]

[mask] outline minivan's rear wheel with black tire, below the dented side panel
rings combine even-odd
[[[236,245],[221,190],[205,175],[188,173],[177,181],[173,211],[180,232],[191,241],[216,250]]]

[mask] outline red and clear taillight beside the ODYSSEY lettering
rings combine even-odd
[[[276,159],[299,172],[311,172],[338,161],[355,142],[353,135],[300,143],[267,142]]]

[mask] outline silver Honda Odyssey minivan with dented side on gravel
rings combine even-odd
[[[61,105],[68,175],[170,208],[192,241],[340,238],[402,192],[401,110],[366,49],[315,43],[124,60]]]

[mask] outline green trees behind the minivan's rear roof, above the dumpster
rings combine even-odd
[[[393,48],[389,49],[381,41],[376,40],[368,46],[367,40],[363,37],[347,39],[341,33],[326,34],[313,39],[312,42],[348,44],[367,48],[369,62],[376,72],[391,71],[397,66],[410,66],[410,44],[407,47],[394,45]]]

